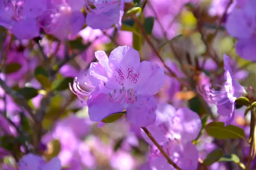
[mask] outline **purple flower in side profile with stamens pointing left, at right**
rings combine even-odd
[[[201,94],[207,102],[217,105],[218,114],[221,116],[227,116],[225,125],[229,125],[233,122],[235,117],[235,100],[244,94],[245,89],[234,79],[229,63],[229,57],[227,57],[227,55],[224,55],[224,70],[224,76],[226,79],[224,86],[216,85],[218,88],[221,88],[221,90],[217,91],[212,87],[207,89],[205,88],[205,85],[203,85],[203,89],[201,89],[203,91]],[[200,92],[201,90],[198,91]]]

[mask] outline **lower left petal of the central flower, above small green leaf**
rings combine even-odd
[[[87,99],[90,120],[98,122],[105,117],[125,110],[126,104],[110,102],[108,94],[102,94],[97,89]]]

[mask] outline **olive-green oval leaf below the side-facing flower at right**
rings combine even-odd
[[[215,139],[244,139],[244,130],[234,125],[224,126],[224,122],[211,122],[205,126],[208,135]]]

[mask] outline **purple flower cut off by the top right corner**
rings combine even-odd
[[[242,8],[235,8],[227,19],[227,31],[237,38],[236,52],[244,59],[256,61],[256,2],[247,0]],[[239,25],[239,26],[238,26]]]

